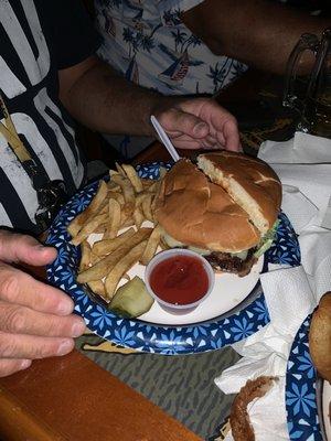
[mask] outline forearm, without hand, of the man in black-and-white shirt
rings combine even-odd
[[[61,74],[60,74],[61,77]],[[121,78],[97,61],[70,87],[62,87],[61,100],[83,125],[111,133],[150,136],[149,116],[161,95]]]

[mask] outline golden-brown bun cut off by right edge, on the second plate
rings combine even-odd
[[[321,298],[312,314],[309,351],[320,376],[331,383],[331,291]]]

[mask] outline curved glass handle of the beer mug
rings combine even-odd
[[[319,44],[320,42],[317,35],[302,34],[287,62],[282,106],[290,107],[297,110],[299,114],[302,114],[305,107],[305,103],[296,95],[295,92],[300,58],[305,51],[312,51],[316,54]]]

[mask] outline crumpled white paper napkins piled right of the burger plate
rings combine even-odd
[[[260,276],[270,323],[233,346],[243,358],[215,378],[215,384],[225,394],[235,394],[247,379],[279,377],[248,411],[256,441],[288,441],[285,375],[290,347],[321,294],[331,290],[331,141],[297,132],[287,142],[263,143],[259,157],[271,164],[282,183],[282,211],[299,235],[302,265],[271,266]],[[225,440],[233,440],[232,434]]]

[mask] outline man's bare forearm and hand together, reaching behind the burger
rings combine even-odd
[[[58,78],[66,109],[94,130],[156,136],[152,114],[180,149],[239,150],[235,118],[212,99],[164,97],[119,77],[97,57],[60,71]]]

